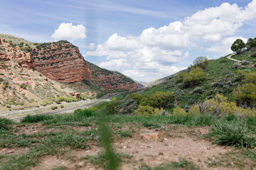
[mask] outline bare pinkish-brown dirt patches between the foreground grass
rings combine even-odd
[[[74,130],[90,130],[92,127],[72,127]],[[122,130],[133,130],[132,137],[114,137],[114,149],[117,153],[129,155],[122,158],[121,169],[139,168],[142,164],[154,167],[160,164],[177,162],[179,159],[186,159],[196,164],[201,169],[228,169],[210,168],[205,162],[213,156],[218,157],[225,152],[231,151],[229,147],[212,145],[208,140],[204,140],[202,135],[208,133],[209,127],[186,128],[181,125],[166,125],[161,128],[141,128],[134,126],[124,126]],[[31,135],[36,132],[60,131],[59,128],[46,128],[40,123],[16,126],[14,132],[18,134]],[[0,154],[22,154],[28,148],[1,149]],[[102,148],[96,141],[90,142],[89,149],[65,148],[65,155],[48,155],[41,157],[38,166],[33,170],[53,169],[65,166],[66,169],[102,169],[98,164],[92,164],[85,157],[95,157],[102,152]]]

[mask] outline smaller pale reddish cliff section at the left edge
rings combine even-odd
[[[12,46],[9,42],[5,42],[3,38],[0,38],[0,60],[14,60],[18,64],[21,64],[22,67],[33,69],[31,54],[29,52],[23,52],[21,47]],[[11,64],[1,62],[0,67],[11,67]]]

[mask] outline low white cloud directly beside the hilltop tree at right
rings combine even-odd
[[[237,40],[238,38],[243,40],[245,43],[247,42],[247,39],[243,38],[243,37],[229,37],[229,38],[225,38],[224,40],[222,40],[222,42],[207,48],[207,50],[209,52],[218,52],[222,55],[228,55],[230,53],[233,53],[233,51],[230,49],[230,47],[233,44],[233,42],[235,40]]]

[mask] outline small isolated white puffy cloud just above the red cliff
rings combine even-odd
[[[86,38],[86,28],[82,24],[73,26],[73,23],[60,23],[58,29],[55,29],[53,35],[51,35],[55,41],[68,40],[73,42],[79,39]]]

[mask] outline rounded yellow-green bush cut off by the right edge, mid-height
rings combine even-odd
[[[233,98],[240,106],[255,107],[256,106],[256,85],[246,83],[238,86],[233,91]]]

